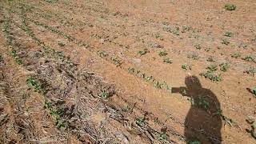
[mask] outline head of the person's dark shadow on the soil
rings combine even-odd
[[[186,76],[185,84],[188,90],[199,90],[202,89],[202,85],[198,79],[198,77],[192,75],[192,76]]]

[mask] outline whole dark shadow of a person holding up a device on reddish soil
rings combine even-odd
[[[222,111],[216,95],[203,88],[196,76],[187,76],[186,87],[173,87],[172,93],[188,97],[191,107],[186,115],[186,142],[221,143]]]

